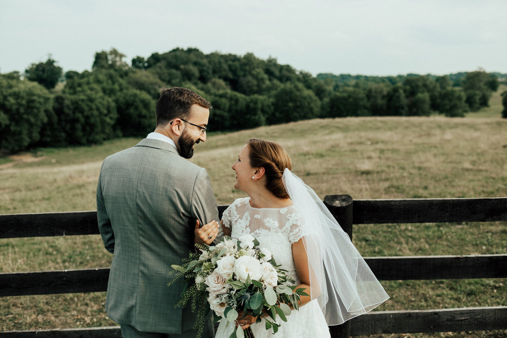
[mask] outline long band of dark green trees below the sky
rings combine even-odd
[[[204,54],[195,48],[137,56],[130,64],[124,58],[116,49],[101,51],[91,71],[63,73],[49,57],[22,74],[0,74],[0,154],[144,136],[154,129],[155,103],[164,87],[198,92],[213,106],[209,130],[227,131],[314,118],[463,117],[487,106],[499,86],[498,74],[484,70],[313,77],[274,58]],[[507,109],[506,101],[507,94]]]

